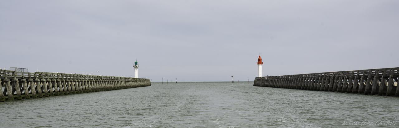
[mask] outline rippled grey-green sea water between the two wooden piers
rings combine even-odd
[[[367,127],[356,122],[399,121],[398,97],[252,85],[153,83],[151,87],[1,102],[0,127],[336,128]],[[368,127],[398,128],[399,122]]]

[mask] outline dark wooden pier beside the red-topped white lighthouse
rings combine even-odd
[[[253,86],[399,96],[399,68],[257,77]]]

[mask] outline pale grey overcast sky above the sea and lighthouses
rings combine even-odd
[[[1,0],[0,68],[180,81],[399,65],[398,0]]]

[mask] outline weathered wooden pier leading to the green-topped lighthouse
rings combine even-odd
[[[0,101],[151,86],[149,79],[0,70]]]

